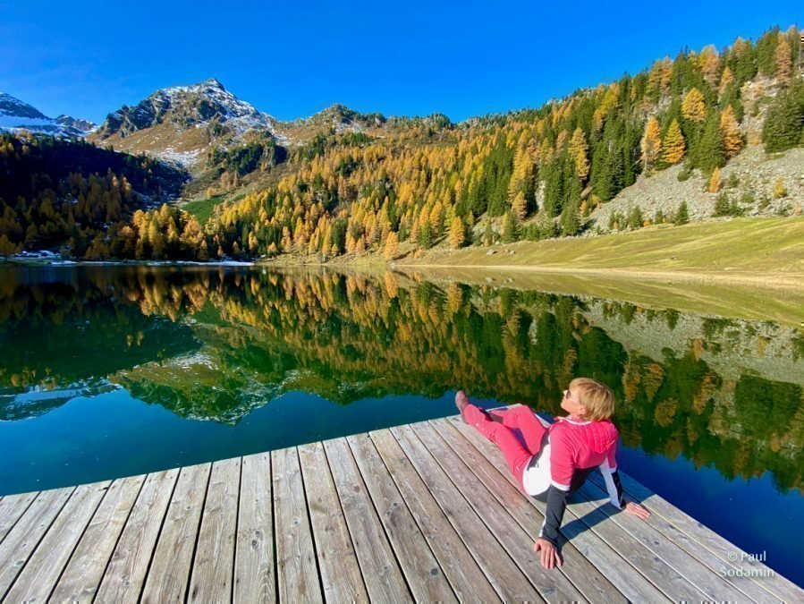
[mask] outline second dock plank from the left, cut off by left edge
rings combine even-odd
[[[75,487],[69,487],[39,493],[5,536],[3,543],[0,543],[0,598],[11,587],[17,574],[20,574],[28,557],[74,490]]]

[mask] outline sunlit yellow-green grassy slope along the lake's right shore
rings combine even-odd
[[[434,250],[405,264],[804,276],[804,217],[657,225],[627,234]],[[514,251],[509,255],[508,251]],[[728,271],[725,272],[724,271]],[[804,283],[804,282],[802,282]]]

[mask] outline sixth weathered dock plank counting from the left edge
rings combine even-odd
[[[183,602],[211,464],[183,467],[167,507],[157,549],[142,591],[143,602]]]

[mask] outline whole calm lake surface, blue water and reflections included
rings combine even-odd
[[[620,464],[804,583],[804,332],[388,273],[0,266],[0,494],[614,387]]]

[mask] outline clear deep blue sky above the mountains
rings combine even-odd
[[[343,103],[459,121],[796,21],[804,4],[786,0],[0,0],[0,90],[47,115],[100,122],[156,89],[216,77],[283,120]]]

